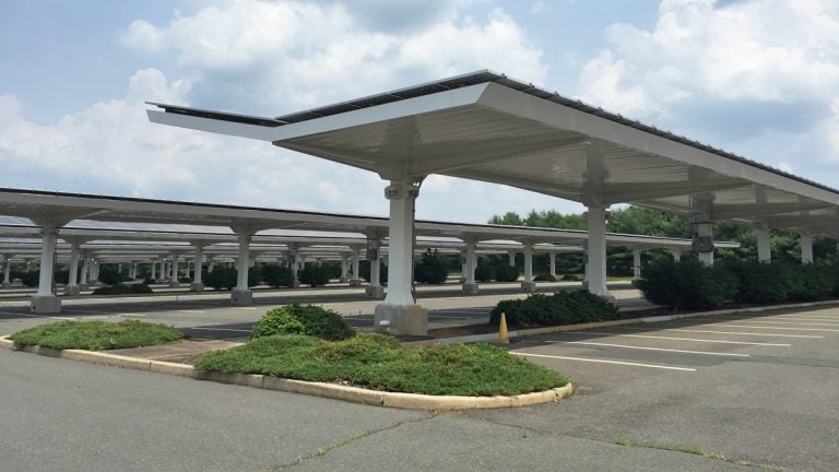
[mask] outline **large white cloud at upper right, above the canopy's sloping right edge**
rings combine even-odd
[[[839,161],[839,2],[662,0],[653,28],[605,35],[582,99],[805,174]],[[759,144],[779,140],[808,145]]]

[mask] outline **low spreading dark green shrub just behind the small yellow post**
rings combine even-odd
[[[493,308],[489,323],[497,324],[506,315],[516,327],[534,328],[608,321],[618,318],[618,308],[605,298],[589,292],[557,292],[534,294],[523,299],[501,300]]]

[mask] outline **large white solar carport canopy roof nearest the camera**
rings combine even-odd
[[[276,118],[152,104],[152,121],[270,141],[378,173],[505,184],[589,204],[839,234],[837,190],[481,71]]]

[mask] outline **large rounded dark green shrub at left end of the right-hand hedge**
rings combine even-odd
[[[716,308],[737,295],[737,279],[730,271],[696,259],[659,259],[641,273],[643,279],[638,281],[638,287],[645,298],[674,310]]]

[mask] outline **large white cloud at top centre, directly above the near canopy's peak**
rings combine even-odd
[[[438,21],[382,31],[362,27],[370,2],[239,0],[164,26],[134,22],[121,40],[173,55],[202,106],[248,113],[279,115],[487,68],[544,83],[541,50],[501,10],[461,17],[454,7],[463,1],[435,3]]]

